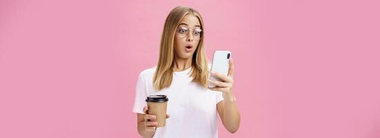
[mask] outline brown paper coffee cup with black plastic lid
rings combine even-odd
[[[148,114],[156,115],[156,121],[159,123],[157,127],[165,126],[168,100],[166,95],[150,95],[145,100],[147,101]]]

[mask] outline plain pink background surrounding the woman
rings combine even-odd
[[[138,73],[175,6],[231,50],[242,122],[219,137],[380,137],[378,1],[0,0],[0,137],[139,137]]]

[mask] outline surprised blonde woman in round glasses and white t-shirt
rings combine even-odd
[[[217,112],[229,132],[239,128],[240,113],[235,103],[233,61],[228,75],[212,73],[223,81],[208,79],[210,63],[203,47],[203,20],[188,7],[174,8],[161,37],[159,63],[138,77],[133,111],[138,133],[143,137],[217,137]],[[215,83],[216,88],[208,88]],[[165,127],[156,128],[154,115],[147,115],[145,99],[167,95]],[[170,117],[170,118],[169,118]]]

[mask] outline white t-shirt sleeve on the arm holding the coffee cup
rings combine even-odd
[[[136,95],[134,98],[133,112],[144,114],[144,107],[147,106],[145,98],[147,97],[147,89],[145,81],[140,74],[136,83]]]

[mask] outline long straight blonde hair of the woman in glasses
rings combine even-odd
[[[163,33],[161,36],[159,63],[156,67],[156,73],[154,75],[154,88],[158,91],[163,88],[170,87],[173,77],[174,66],[174,35],[179,26],[180,21],[188,14],[192,14],[199,19],[201,23],[201,39],[197,49],[192,55],[192,81],[199,83],[204,88],[208,86],[208,59],[204,52],[203,47],[203,19],[201,14],[189,7],[178,6],[174,8],[166,17],[165,25],[163,27]]]

